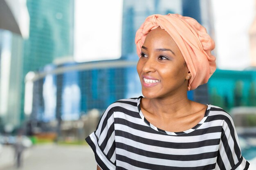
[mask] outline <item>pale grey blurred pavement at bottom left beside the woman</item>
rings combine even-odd
[[[18,170],[96,170],[96,167],[94,153],[89,146],[47,144],[26,150]],[[0,170],[17,170],[11,147],[4,146]]]

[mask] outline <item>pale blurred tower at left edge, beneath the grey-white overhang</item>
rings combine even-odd
[[[22,48],[20,35],[0,29],[0,130],[20,124]]]

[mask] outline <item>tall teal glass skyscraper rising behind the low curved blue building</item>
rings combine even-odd
[[[74,39],[74,0],[27,0],[27,8],[30,15],[30,36],[24,42],[23,79],[29,71],[40,71],[56,60],[70,58],[73,55]],[[45,82],[49,82],[49,79],[54,78],[47,76]],[[24,82],[22,89],[25,89]],[[47,92],[38,93],[45,96]],[[23,90],[21,119],[25,116],[24,97]],[[38,113],[43,110],[42,108]]]

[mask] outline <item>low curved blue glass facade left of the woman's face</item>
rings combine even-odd
[[[111,62],[121,60],[112,60]],[[102,61],[106,68],[64,71],[48,74],[34,82],[33,110],[31,119],[36,121],[78,120],[81,115],[96,108],[106,108],[118,99],[138,97],[141,86],[136,66],[115,68],[111,62]],[[97,62],[99,63],[99,62]],[[68,69],[81,63],[46,66],[39,74],[49,72],[49,68]]]

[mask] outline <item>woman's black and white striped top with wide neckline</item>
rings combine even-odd
[[[145,119],[141,98],[111,104],[85,139],[102,170],[248,169],[234,123],[222,108],[208,104],[198,125],[167,132]]]

